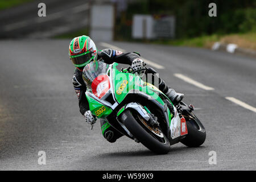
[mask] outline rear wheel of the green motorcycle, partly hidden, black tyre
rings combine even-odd
[[[204,143],[206,132],[203,124],[192,112],[184,115],[187,123],[188,134],[180,142],[188,147],[199,147]]]

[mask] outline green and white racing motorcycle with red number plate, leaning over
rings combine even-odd
[[[156,154],[167,154],[178,142],[188,147],[204,143],[205,129],[192,113],[192,105],[173,105],[141,75],[131,68],[119,71],[117,65],[92,61],[85,66],[82,77],[92,114]],[[144,69],[156,73],[152,68]]]

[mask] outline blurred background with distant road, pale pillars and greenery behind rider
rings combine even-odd
[[[44,1],[39,17],[33,0],[0,2],[0,38],[73,38],[212,48],[214,42],[256,50],[254,0]],[[210,17],[210,3],[217,16]]]

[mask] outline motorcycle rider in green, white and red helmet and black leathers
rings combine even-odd
[[[135,52],[121,52],[114,49],[98,50],[93,40],[89,36],[79,36],[73,38],[69,44],[69,57],[75,65],[75,73],[72,78],[73,86],[79,100],[80,113],[84,115],[85,122],[94,124],[96,117],[89,110],[89,103],[86,99],[86,84],[82,79],[82,71],[86,64],[90,61],[103,61],[106,64],[120,63],[129,64],[133,71],[139,71],[144,68],[144,61],[140,58],[140,55]],[[179,103],[184,94],[175,92],[174,89],[168,88],[166,82],[159,78],[159,90],[161,90],[170,100],[177,104]],[[106,140],[113,143],[123,134],[115,130],[107,121],[101,119],[101,131]]]

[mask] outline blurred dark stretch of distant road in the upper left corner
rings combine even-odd
[[[39,17],[40,3],[35,0],[0,11],[0,38],[49,38],[88,26],[89,1],[44,0],[46,16]]]

